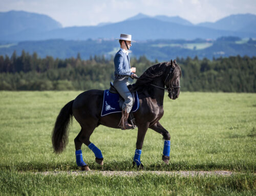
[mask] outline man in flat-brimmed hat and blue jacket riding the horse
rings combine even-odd
[[[118,93],[124,99],[122,105],[122,118],[118,126],[121,127],[121,129],[129,129],[133,127],[133,125],[127,122],[129,113],[133,107],[133,96],[127,88],[127,85],[129,84],[128,77],[137,77],[135,74],[136,68],[131,68],[130,58],[128,55],[128,50],[132,46],[132,35],[120,34],[120,38],[117,39],[119,39],[120,50],[116,53],[114,58],[115,80],[113,84]]]

